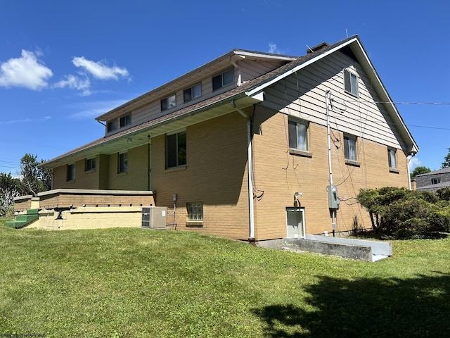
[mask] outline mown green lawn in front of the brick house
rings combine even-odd
[[[0,337],[450,337],[450,238],[393,246],[368,263],[0,220]]]

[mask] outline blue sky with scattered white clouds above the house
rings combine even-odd
[[[0,0],[0,172],[103,137],[96,116],[231,49],[301,56],[355,34],[409,103],[397,108],[413,165],[436,170],[448,154],[448,1],[154,2]]]

